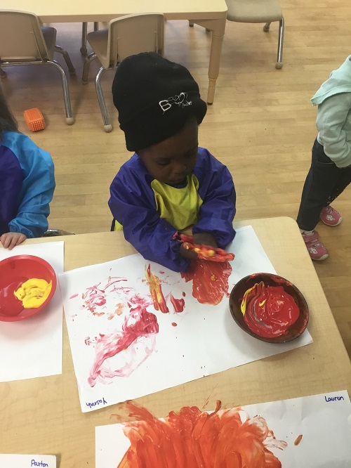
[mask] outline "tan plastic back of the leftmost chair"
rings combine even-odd
[[[37,15],[0,10],[0,63],[48,60],[48,50]]]

